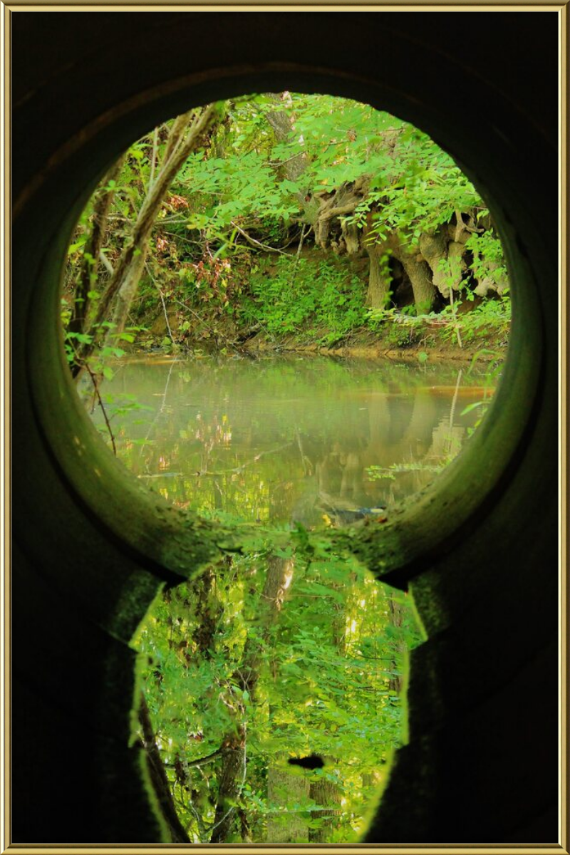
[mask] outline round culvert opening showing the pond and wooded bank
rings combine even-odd
[[[289,92],[219,109],[208,139],[182,156],[169,184],[169,134],[181,143],[194,119],[183,123],[184,133],[180,120],[171,121],[133,144],[91,198],[74,230],[62,289],[68,362],[76,382],[83,374],[85,402],[108,444],[115,453],[119,445],[138,478],[179,507],[231,512],[231,503],[201,504],[200,477],[236,481],[261,457],[284,451],[272,442],[294,445],[294,430],[303,475],[318,470],[323,493],[312,513],[305,501],[295,518],[355,522],[367,508],[393,505],[431,481],[490,404],[510,321],[496,228],[451,159],[390,115]],[[298,358],[288,371],[282,360],[279,380],[269,357],[286,353]],[[336,362],[314,359],[317,367],[304,377],[310,357],[323,353]],[[260,356],[255,367],[244,365]],[[438,371],[446,356],[460,357],[459,368]],[[215,357],[223,369],[212,367]],[[352,389],[344,357],[355,380],[362,377]],[[373,363],[362,360],[378,357],[386,370],[374,376]],[[210,368],[217,401],[203,400]],[[317,422],[336,384],[336,428],[323,445]],[[267,386],[259,400],[256,386]],[[356,421],[347,396],[361,414]],[[285,409],[291,403],[289,433],[279,432],[283,414],[273,415],[280,399]],[[313,403],[318,411],[310,416]],[[267,419],[275,422],[267,431],[272,441],[251,445],[247,425],[259,433]],[[240,437],[252,461],[226,460],[223,452]],[[285,458],[282,469],[295,468]],[[252,520],[281,519],[263,502],[249,504]]]

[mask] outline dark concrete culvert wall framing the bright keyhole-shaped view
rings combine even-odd
[[[134,628],[217,534],[97,439],[58,333],[69,236],[99,177],[173,115],[251,91],[372,103],[490,203],[513,281],[502,386],[468,453],[371,568],[411,587],[409,741],[367,842],[557,840],[555,12],[15,12],[13,826],[17,843],[160,842],[129,746]]]

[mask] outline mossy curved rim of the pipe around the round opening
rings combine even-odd
[[[109,163],[152,127],[185,112],[191,106],[206,103],[204,88],[208,91],[209,100],[238,97],[253,91],[322,91],[371,103],[376,109],[387,110],[421,127],[421,117],[420,121],[416,119],[413,103],[407,103],[404,98],[398,102],[398,94],[393,92],[389,99],[383,98],[381,92],[371,92],[369,84],[363,84],[358,79],[350,80],[348,75],[338,75],[332,71],[315,75],[309,69],[297,67],[285,71],[279,69],[278,72],[260,68],[257,73],[250,70],[241,85],[238,83],[240,69],[228,69],[223,76],[220,72],[205,76],[209,77],[207,84],[198,77],[196,82],[191,79],[162,85],[156,91],[132,98],[130,102],[120,105],[119,109],[109,110],[103,120],[93,123],[93,142],[105,133],[106,144],[98,146],[97,156],[93,156],[87,164],[83,184],[85,190],[68,216],[62,219],[58,234],[61,239],[50,247],[49,257],[46,258],[42,281],[42,286],[45,284],[46,287],[38,287],[38,300],[43,305],[41,309],[38,306],[33,315],[35,319],[41,319],[42,325],[49,312],[54,315],[59,311],[59,304],[53,299],[54,289],[59,297],[59,271],[65,263],[65,252],[73,227]],[[252,76],[253,81],[250,82]],[[319,80],[318,85],[315,85],[315,77]],[[342,85],[339,85],[339,79]],[[368,97],[362,97],[363,91]],[[193,95],[193,92],[197,94]],[[390,103],[386,104],[386,100]],[[109,131],[112,131],[117,121],[120,122],[122,133],[109,139]],[[126,132],[126,127],[132,128],[134,134],[132,131]],[[504,376],[491,411],[485,416],[467,448],[431,487],[399,510],[382,531],[377,531],[372,537],[367,533],[366,538],[357,541],[356,554],[367,563],[368,568],[394,584],[405,584],[422,569],[431,566],[440,551],[449,550],[453,540],[462,536],[466,526],[476,524],[482,514],[492,511],[502,489],[508,487],[508,472],[522,453],[526,431],[532,430],[533,404],[539,392],[540,363],[535,356],[541,351],[542,329],[537,322],[539,315],[536,308],[530,311],[519,309],[520,304],[532,302],[532,270],[517,250],[515,232],[504,208],[491,189],[483,186],[476,164],[475,168],[473,165],[463,165],[459,159],[461,152],[454,150],[453,142],[445,145],[446,129],[440,128],[439,124],[436,127],[437,134],[432,133],[432,139],[437,139],[442,148],[455,156],[489,204],[497,221],[513,291],[513,330]],[[426,128],[422,127],[422,130]],[[65,154],[80,144],[85,144],[85,135],[80,140],[69,141],[64,146]],[[54,317],[52,329],[55,330],[56,326]],[[43,373],[40,382],[35,383],[35,401],[50,449],[66,473],[70,485],[85,508],[129,550],[138,553],[138,561],[185,577],[191,569],[196,568],[197,563],[213,557],[216,545],[223,547],[231,543],[232,539],[215,525],[173,509],[162,497],[148,491],[134,476],[127,475],[120,464],[117,465],[103,447],[76,396],[71,394],[68,369],[62,359],[61,340],[53,333],[52,339],[51,347],[58,351],[58,358],[55,358],[55,353],[51,353],[50,363],[53,367],[52,382],[56,380],[60,391],[59,407],[52,405],[53,388],[45,382]],[[31,340],[32,343],[39,343],[45,360],[49,344],[45,335],[38,329],[32,333]],[[521,346],[522,341],[524,347]],[[513,357],[513,354],[516,356]],[[37,359],[38,356],[32,354],[32,364]],[[516,413],[515,420],[513,413]],[[484,467],[480,465],[482,460],[485,461]],[[444,513],[442,509],[445,509]]]

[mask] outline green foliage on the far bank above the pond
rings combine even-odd
[[[274,130],[276,115],[282,133]],[[417,249],[422,233],[437,233],[461,215],[470,223],[463,254],[467,268],[459,273],[461,299],[473,301],[489,291],[507,294],[502,247],[485,204],[452,158],[417,128],[367,104],[290,92],[238,98],[226,103],[220,119],[209,146],[187,158],[162,203],[133,310],[135,322],[158,313],[175,317],[172,330],[161,331],[157,339],[168,351],[197,339],[226,347],[227,335],[220,330],[228,319],[238,328],[259,323],[273,339],[303,331],[323,345],[361,327],[367,319],[360,280],[347,269],[341,274],[326,258],[316,272],[309,269],[303,256],[297,259],[295,246],[301,224],[314,221],[319,194],[363,176],[364,198],[347,222],[366,225],[368,241],[397,234]],[[167,122],[133,144],[117,180],[108,185],[115,191],[104,248],[108,265],[131,237],[133,217],[171,127]],[[290,172],[291,164],[298,168]],[[108,265],[103,269],[85,251],[92,213],[91,201],[68,250],[68,305],[82,264],[97,269],[90,294],[94,305],[108,274]],[[291,242],[291,255],[279,256],[275,264],[262,255],[267,246],[286,251]],[[450,281],[456,278],[457,271],[450,270]],[[464,323],[467,341],[484,338],[487,321],[492,329],[500,326],[492,309],[467,322],[455,317],[456,310],[455,305],[455,337]],[[367,325],[373,329],[373,319]],[[442,325],[444,334],[445,329]],[[417,340],[411,328],[399,327],[388,338],[392,347]],[[68,354],[73,358],[69,341]]]

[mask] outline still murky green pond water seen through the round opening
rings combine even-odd
[[[103,400],[120,459],[173,504],[314,525],[426,486],[492,391],[484,369],[456,366],[162,358],[120,364]]]

